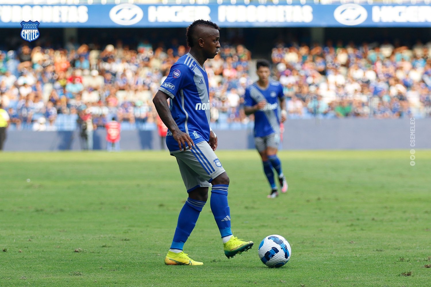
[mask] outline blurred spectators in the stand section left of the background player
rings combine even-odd
[[[59,115],[75,121],[88,114],[95,128],[112,117],[131,128],[145,128],[156,122],[153,95],[187,52],[185,46],[153,47],[147,41],[136,50],[119,41],[103,50],[69,42],[65,49],[2,51],[1,102],[17,129],[58,130]],[[239,118],[240,95],[251,83],[250,56],[244,46],[224,46],[206,62],[213,121]]]

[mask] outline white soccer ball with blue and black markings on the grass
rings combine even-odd
[[[290,244],[280,235],[269,235],[259,244],[259,258],[268,267],[281,267],[290,259]]]

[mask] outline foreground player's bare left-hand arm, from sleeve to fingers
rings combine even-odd
[[[178,142],[178,147],[180,151],[184,146],[184,150],[187,145],[191,149],[194,146],[193,140],[187,133],[183,133],[179,128],[177,123],[175,123],[174,118],[172,117],[171,111],[169,110],[168,105],[169,96],[162,91],[157,91],[156,96],[154,96],[153,103],[156,107],[157,113],[159,114],[162,122],[168,127],[168,129],[172,132],[172,136]]]

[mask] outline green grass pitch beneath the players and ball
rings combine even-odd
[[[0,154],[0,286],[431,285],[431,151],[281,151],[276,199],[256,151],[217,154],[255,247],[227,259],[208,203],[184,247],[203,266],[163,263],[187,198],[166,151]],[[282,268],[257,255],[271,234]]]

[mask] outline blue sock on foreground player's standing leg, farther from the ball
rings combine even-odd
[[[190,236],[191,231],[193,231],[204,205],[205,201],[187,198],[178,216],[177,228],[175,229],[171,249],[183,250],[184,243]]]

